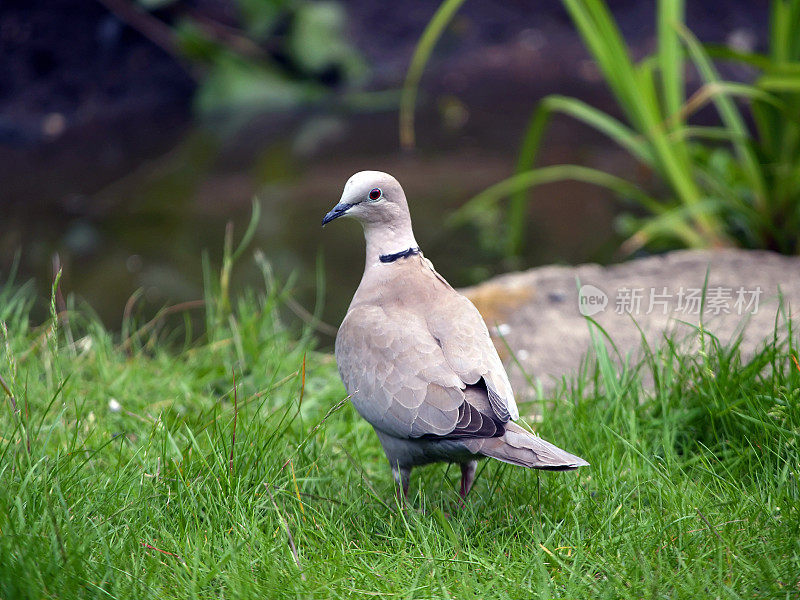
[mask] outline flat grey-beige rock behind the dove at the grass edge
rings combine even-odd
[[[699,306],[692,306],[690,293],[702,295],[704,287],[703,326],[723,344],[744,328],[741,348],[747,357],[772,338],[781,299],[781,331],[785,315],[800,306],[800,257],[735,249],[683,250],[608,267],[539,267],[462,290],[489,325],[508,365],[512,387],[523,398],[532,390],[516,361],[509,360],[511,353],[544,390],[574,375],[587,355],[591,337],[579,309],[579,282],[607,296],[605,309],[592,318],[631,360],[642,356],[642,333],[651,346],[672,336],[681,340],[685,352],[697,351],[701,315]],[[641,292],[638,310],[632,290]],[[740,294],[743,298],[737,304]],[[754,295],[757,307],[748,307]],[[652,306],[651,298],[655,300]],[[585,310],[592,306],[599,304],[584,301]]]

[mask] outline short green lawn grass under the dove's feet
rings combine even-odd
[[[30,293],[0,288],[0,598],[800,595],[791,331],[747,361],[705,334],[630,367],[598,331],[597,367],[538,426],[590,468],[484,462],[463,509],[457,469],[418,469],[403,513],[332,357],[267,282],[230,310],[210,290],[189,342],[121,339],[80,307],[35,325]]]

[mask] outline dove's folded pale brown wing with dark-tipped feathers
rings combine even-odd
[[[454,368],[440,342],[424,315],[396,306],[351,308],[336,337],[336,362],[354,406],[400,438],[502,435],[488,380],[464,381],[463,361]]]

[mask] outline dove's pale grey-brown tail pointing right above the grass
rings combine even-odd
[[[465,445],[475,454],[483,454],[503,462],[548,471],[569,471],[588,466],[582,458],[546,442],[516,423],[504,423],[501,437],[469,440]],[[465,440],[466,442],[466,440]]]

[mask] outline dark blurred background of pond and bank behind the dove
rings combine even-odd
[[[662,169],[637,146],[642,136],[649,140],[647,120],[637,123],[637,96],[629,96],[628,105],[623,91],[609,83],[598,50],[587,48],[591,32],[576,27],[578,9],[569,4],[470,0],[458,7],[423,61],[416,140],[413,149],[403,150],[401,89],[420,38],[439,9],[437,1],[4,0],[3,280],[18,258],[17,280],[34,278],[47,298],[57,255],[62,289],[119,328],[126,304],[129,311],[152,314],[201,298],[201,254],[207,250],[218,268],[226,222],[233,221],[238,239],[250,220],[251,201],[258,198],[252,248],[263,252],[279,280],[292,278],[293,297],[310,312],[324,272],[324,307],[317,308],[323,321],[335,325],[360,278],[363,241],[356,223],[336,222],[323,231],[320,219],[347,178],[364,169],[398,177],[417,239],[456,286],[512,269],[608,263],[687,245],[796,252],[791,234],[798,227],[800,175],[789,180],[795,187],[789,185],[783,204],[769,213],[769,219],[786,223],[788,235],[759,237],[751,231],[755,225],[737,221],[738,213],[725,216],[732,209],[724,190],[716,196],[706,191],[721,185],[733,190],[728,194],[733,198],[747,187],[742,181],[753,167],[745,160],[739,169],[737,138],[721,129],[713,144],[692,147],[686,153],[690,158],[681,154],[684,150],[677,154],[679,166],[684,160],[699,165],[699,196],[714,201],[707,220],[720,219],[711,225],[703,219],[689,222],[705,204],[683,198],[691,190],[681,189],[674,169],[669,164]],[[730,95],[712,92],[705,101],[696,95],[711,76],[690,52],[694,36],[707,45],[704,52],[713,56],[716,76],[756,85],[769,75],[764,61],[770,52],[775,55],[775,6],[781,2],[693,0],[684,14],[679,3],[609,0],[606,6],[630,56],[641,61],[637,64],[650,64],[648,56],[665,52],[659,38],[659,23],[666,19],[662,4],[678,6],[679,21],[692,36],[679,40],[686,64],[676,67],[680,89],[673,91],[680,98],[670,100],[669,85],[664,87],[664,122],[676,126],[671,143],[690,137],[682,137],[690,122],[703,139],[714,139],[712,133],[721,127],[735,130],[735,119],[726,119],[724,106],[715,100],[734,102],[754,139],[767,117],[751,114],[749,103],[769,104],[766,94],[781,93],[796,100],[800,87],[786,85],[765,84],[763,97],[755,87],[741,93],[731,88]],[[798,45],[791,39],[785,44],[789,54]],[[626,138],[617,132],[615,138],[587,124],[590,119],[554,110],[539,140],[536,165],[582,165],[632,182],[669,210],[691,204],[695,208],[689,210],[684,234],[673,231],[659,238],[655,233],[663,233],[663,223],[643,232],[643,223],[653,223],[658,210],[644,201],[632,205],[625,190],[615,187],[616,179],[598,186],[572,176],[577,172],[553,173],[552,183],[520,200],[517,212],[524,218],[514,224],[504,220],[510,205],[500,199],[478,201],[456,213],[482,191],[529,167],[521,151],[536,138],[531,116],[552,94],[578,99],[644,133]],[[668,110],[675,101],[686,109],[677,121]],[[786,128],[780,118],[777,123]],[[657,143],[654,147],[661,152]],[[792,148],[790,143],[790,154]],[[757,151],[756,162],[774,167],[763,154]],[[769,179],[772,171],[766,173]],[[704,183],[714,177],[724,181]],[[454,220],[454,214],[461,218]],[[686,217],[685,210],[681,214]],[[510,245],[509,236],[516,236]],[[260,279],[250,263],[240,261],[235,285]],[[323,344],[331,339],[323,333]]]

